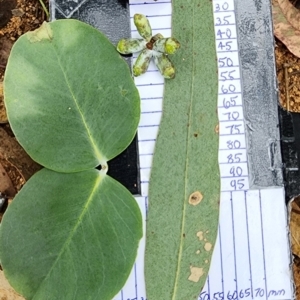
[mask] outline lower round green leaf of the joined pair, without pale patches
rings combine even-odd
[[[139,207],[117,181],[97,170],[43,169],[4,215],[1,265],[26,299],[111,300],[141,237]]]

